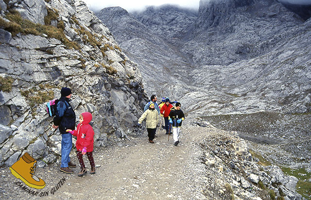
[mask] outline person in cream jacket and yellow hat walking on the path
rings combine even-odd
[[[159,115],[155,110],[154,102],[149,102],[149,108],[146,110],[141,117],[138,119],[138,126],[142,123],[142,121],[146,119],[146,128],[148,132],[148,141],[150,143],[155,143],[153,140],[155,138],[156,125],[159,120]]]

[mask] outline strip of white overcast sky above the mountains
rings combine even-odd
[[[142,10],[150,5],[176,4],[181,7],[199,10],[200,0],[83,0],[92,11],[99,11],[105,7],[120,6],[131,12]]]

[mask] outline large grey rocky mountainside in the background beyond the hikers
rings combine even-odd
[[[158,86],[152,91],[182,101],[187,111],[309,112],[310,20],[276,0],[201,0],[197,15],[171,6],[149,8],[127,14],[128,23],[110,20],[115,13],[122,12],[105,8],[96,15],[131,51],[148,86]],[[150,71],[160,74],[160,83],[150,79]]]

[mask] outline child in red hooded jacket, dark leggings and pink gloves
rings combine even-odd
[[[79,117],[79,124],[77,130],[67,129],[66,131],[77,137],[76,148],[77,157],[81,166],[81,171],[78,176],[85,175],[86,166],[84,165],[82,156],[86,154],[89,164],[91,165],[91,174],[95,174],[95,163],[93,158],[93,146],[94,146],[94,131],[89,122],[92,120],[92,114],[85,112]]]

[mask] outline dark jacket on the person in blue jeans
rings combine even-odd
[[[66,132],[67,129],[75,129],[76,114],[71,108],[69,101],[70,99],[61,97],[57,103],[57,111],[53,122],[55,126],[59,126],[60,133],[68,133]]]

